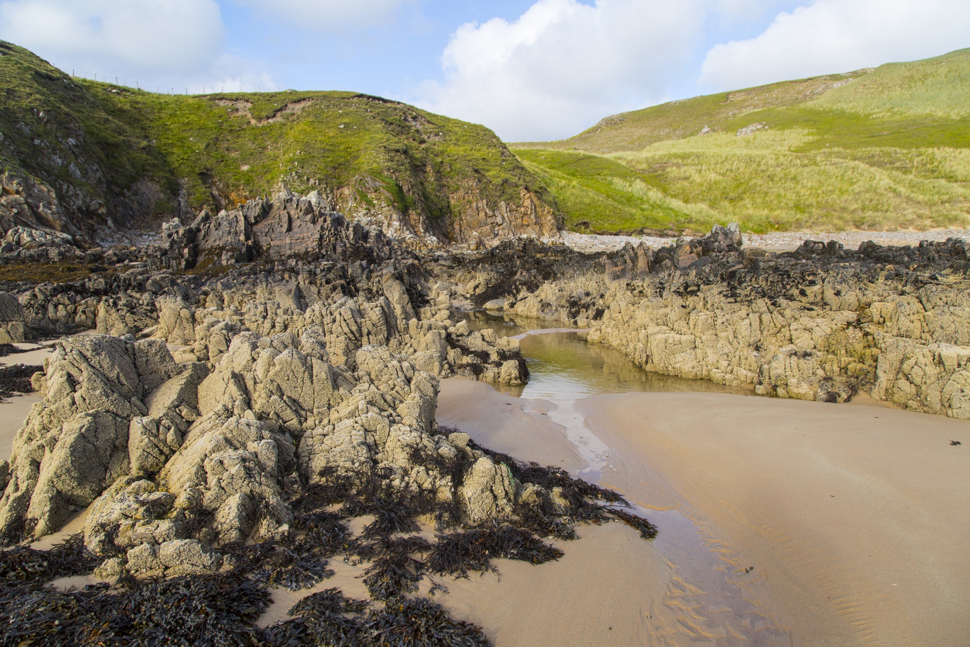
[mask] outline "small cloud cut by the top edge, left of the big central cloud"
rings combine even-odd
[[[264,14],[296,20],[305,29],[329,30],[383,21],[411,0],[236,0]]]

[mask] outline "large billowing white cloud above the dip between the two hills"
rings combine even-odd
[[[513,22],[463,24],[443,82],[419,105],[483,123],[505,141],[560,139],[663,99],[695,46],[700,0],[539,0]]]

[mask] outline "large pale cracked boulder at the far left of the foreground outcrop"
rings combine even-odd
[[[146,386],[179,370],[163,342],[86,335],[58,343],[46,365],[44,401],[17,432],[0,499],[0,535],[9,538],[56,531],[129,473],[129,431],[148,413]]]

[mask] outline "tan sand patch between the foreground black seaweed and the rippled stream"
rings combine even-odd
[[[449,593],[436,601],[500,647],[654,644],[665,632],[657,628],[674,622],[663,555],[623,524],[577,531],[578,540],[553,542],[566,553],[557,562],[497,560],[501,577],[444,581]]]

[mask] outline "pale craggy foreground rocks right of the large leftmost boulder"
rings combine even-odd
[[[358,348],[347,363],[354,371],[327,355],[319,326],[299,338],[241,333],[205,379],[201,365],[190,365],[159,385],[146,399],[147,415],[129,423],[131,475],[90,508],[88,548],[104,556],[124,550],[129,570],[153,573],[160,562],[170,575],[177,566],[163,556],[166,542],[221,545],[285,534],[293,492],[333,469],[357,480],[379,473],[394,491],[451,500],[453,476],[440,467],[469,452],[469,440],[436,434],[436,376],[387,346]],[[179,427],[196,404],[199,417]],[[514,506],[508,469],[490,465],[484,459],[469,469],[456,501],[475,521],[504,518]],[[157,552],[132,552],[142,544]],[[186,565],[178,572],[211,566]]]

